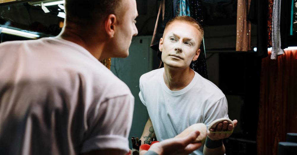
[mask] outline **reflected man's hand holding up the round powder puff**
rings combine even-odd
[[[217,124],[216,128],[211,128],[210,130],[211,131],[232,131],[235,126],[237,125],[237,120],[233,120],[233,124],[228,124],[227,121],[223,121],[219,124]],[[207,136],[209,139],[211,140],[220,140],[220,139],[224,139],[224,138],[228,138],[229,136],[231,136],[232,133],[230,134],[225,134],[225,133],[210,133],[208,130],[207,130]]]

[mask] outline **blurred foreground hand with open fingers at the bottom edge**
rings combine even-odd
[[[170,138],[159,143],[154,143],[149,151],[154,151],[159,155],[186,155],[201,147],[201,143],[193,143],[200,135],[199,131],[184,138]],[[141,151],[144,153],[143,151]]]

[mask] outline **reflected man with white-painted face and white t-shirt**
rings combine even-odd
[[[203,33],[200,24],[189,16],[167,23],[159,44],[164,68],[140,77],[139,97],[150,117],[141,136],[143,142],[175,137],[192,124],[204,123],[208,127],[218,118],[228,118],[222,91],[189,67],[199,56]],[[237,120],[233,123],[236,125]],[[232,124],[223,121],[211,130],[232,129]],[[200,149],[192,154],[225,154],[222,139],[230,135],[208,132],[203,153]]]

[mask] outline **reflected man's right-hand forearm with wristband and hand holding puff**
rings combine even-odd
[[[228,124],[227,121],[217,124],[216,129],[211,129],[211,131],[232,131],[237,124],[237,120],[233,120],[233,124]],[[203,148],[204,155],[223,155],[225,154],[225,146],[223,144],[223,139],[228,138],[230,134],[221,133],[210,133],[207,131],[206,142]]]

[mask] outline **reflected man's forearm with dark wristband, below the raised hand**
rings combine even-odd
[[[222,142],[212,141],[208,137],[206,138],[206,143],[203,148],[204,155],[224,155],[225,154],[225,146]]]

